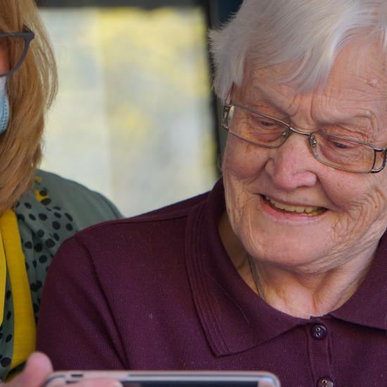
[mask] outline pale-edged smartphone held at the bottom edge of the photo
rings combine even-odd
[[[115,379],[125,387],[280,387],[269,372],[234,371],[65,371],[54,372],[44,387],[85,379]]]

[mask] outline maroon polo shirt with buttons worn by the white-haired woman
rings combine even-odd
[[[46,280],[37,348],[55,369],[267,370],[283,387],[387,386],[387,240],[338,310],[267,305],[227,256],[209,194],[68,239]]]

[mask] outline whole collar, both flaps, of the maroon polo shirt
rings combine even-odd
[[[286,315],[265,303],[243,281],[220,240],[217,222],[224,211],[222,179],[207,201],[194,208],[186,227],[186,266],[196,311],[215,355],[254,348],[311,322]],[[331,317],[386,329],[387,239],[383,238],[367,278]]]

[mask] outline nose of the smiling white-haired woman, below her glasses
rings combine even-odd
[[[291,134],[285,144],[270,151],[266,171],[279,189],[293,191],[316,184],[317,175],[312,166],[317,161],[307,141],[305,136]]]

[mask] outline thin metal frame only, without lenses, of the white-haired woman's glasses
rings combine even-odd
[[[236,108],[240,108],[241,110],[245,110],[245,111],[247,111],[249,113],[253,113],[253,114],[256,114],[256,115],[260,115],[261,117],[269,118],[269,120],[273,120],[274,122],[278,122],[279,124],[285,125],[287,127],[287,131],[286,131],[286,137],[284,139],[284,142],[282,144],[279,144],[278,146],[269,146],[269,145],[265,145],[265,144],[256,143],[255,141],[251,141],[249,139],[245,139],[245,138],[239,136],[239,134],[236,134],[236,133],[232,132],[231,129],[229,128],[228,120],[229,120],[230,110],[231,110],[231,108],[233,106],[235,106]],[[269,148],[269,149],[279,148],[281,145],[284,145],[286,140],[288,139],[288,137],[290,137],[290,135],[292,133],[302,134],[303,136],[307,136],[309,138],[309,144],[310,144],[312,156],[315,158],[315,160],[319,161],[319,163],[322,163],[324,165],[328,165],[329,167],[332,167],[332,168],[334,168],[336,170],[343,170],[343,171],[346,171],[346,172],[355,172],[355,173],[367,174],[367,173],[378,173],[378,172],[381,172],[381,170],[383,170],[383,168],[386,167],[387,148],[378,148],[378,147],[374,146],[373,144],[369,144],[369,143],[364,142],[364,141],[348,139],[347,137],[340,137],[340,136],[336,136],[334,134],[329,134],[329,133],[325,133],[325,132],[303,132],[300,129],[297,129],[295,127],[292,127],[291,125],[288,125],[288,123],[286,123],[284,121],[278,120],[277,118],[274,118],[274,117],[272,117],[270,115],[266,115],[264,113],[260,113],[257,110],[248,108],[247,106],[243,106],[243,105],[240,105],[239,103],[235,103],[235,102],[232,102],[232,101],[230,101],[229,103],[225,102],[224,105],[223,105],[222,127],[229,134],[232,134],[234,137],[237,137],[237,138],[239,138],[239,139],[241,139],[243,141],[246,141],[249,144],[253,144],[253,145],[256,145],[256,146],[261,146],[262,148]],[[317,158],[315,156],[315,153],[313,152],[313,146],[315,146],[317,144],[317,140],[315,139],[314,134],[322,134],[324,136],[333,137],[335,139],[341,139],[341,140],[353,142],[355,144],[362,144],[362,145],[366,145],[366,146],[371,147],[374,150],[374,163],[372,164],[371,170],[369,170],[369,171],[349,170],[349,169],[346,169],[346,168],[343,168],[343,167],[338,167],[336,165],[331,165],[329,163],[326,163],[324,160],[320,160],[319,158]],[[376,154],[377,153],[383,153],[383,162],[381,164],[381,167],[374,168],[375,167],[375,163],[376,163]]]

